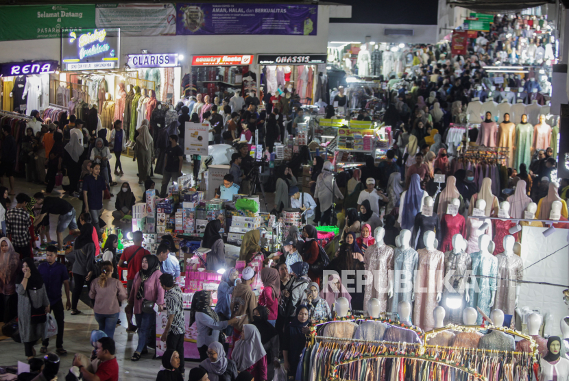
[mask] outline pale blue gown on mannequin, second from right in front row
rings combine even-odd
[[[470,288],[470,302],[468,306],[476,309],[479,307],[487,316],[490,315],[492,306],[492,291],[496,291],[496,275],[498,274],[498,260],[495,256],[483,254],[482,251],[470,254],[472,259],[472,275],[484,275],[490,278],[472,277],[472,282],[478,285]],[[478,315],[476,324],[482,323],[482,315]]]

